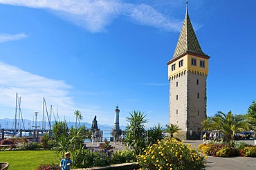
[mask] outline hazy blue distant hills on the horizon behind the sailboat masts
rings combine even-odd
[[[52,122],[52,124],[54,124],[54,122]],[[75,122],[67,122],[68,127],[70,126],[75,126]],[[80,122],[81,125],[85,125],[86,128],[90,129],[91,128],[91,124],[88,122]],[[17,129],[35,129],[33,126],[35,126],[35,122],[31,121],[31,120],[23,120],[19,121],[17,120]],[[37,122],[37,126],[40,126],[39,129],[42,129],[42,121],[38,121]],[[48,129],[48,122],[46,122],[46,129]],[[125,130],[126,126],[120,126],[120,129]],[[0,119],[0,128],[1,129],[15,129],[15,120],[14,119]],[[113,129],[113,126],[110,126],[108,124],[98,124],[98,128],[101,131],[111,131]]]

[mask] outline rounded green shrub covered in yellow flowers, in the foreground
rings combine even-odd
[[[147,147],[137,160],[142,169],[201,169],[206,158],[190,145],[168,138]]]

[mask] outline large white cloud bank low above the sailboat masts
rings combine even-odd
[[[111,122],[112,117],[104,119],[104,115],[109,113],[106,113],[100,106],[74,103],[75,99],[71,97],[71,91],[73,91],[73,86],[62,80],[33,75],[15,66],[0,62],[0,108],[1,113],[4,113],[0,115],[0,118],[15,117],[15,97],[18,93],[21,97],[21,110],[24,119],[33,120],[35,111],[39,111],[38,119],[42,119],[44,97],[48,114],[51,113],[51,105],[53,106],[52,120],[58,113],[61,120],[65,118],[67,121],[75,122],[74,111],[78,109],[83,116],[82,122],[91,123],[94,115],[98,116],[100,124]]]

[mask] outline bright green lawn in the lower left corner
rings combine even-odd
[[[34,170],[40,164],[60,164],[56,151],[0,151],[0,162],[8,162],[8,170]]]

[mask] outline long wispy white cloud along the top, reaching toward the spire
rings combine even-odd
[[[102,32],[113,19],[125,16],[144,26],[179,32],[182,21],[170,20],[147,4],[135,5],[118,0],[0,0],[2,4],[44,8],[91,32]]]

